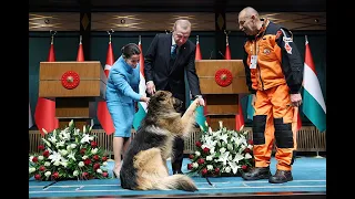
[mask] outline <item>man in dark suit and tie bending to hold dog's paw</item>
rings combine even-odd
[[[196,45],[189,40],[190,33],[190,21],[176,20],[172,33],[155,35],[144,56],[148,94],[152,95],[160,90],[170,91],[174,97],[183,102],[184,106],[181,113],[184,113],[187,106],[184,72],[192,97],[199,98],[199,104],[204,106],[195,70]],[[174,142],[174,154],[171,161],[173,174],[182,174],[183,149],[184,140],[178,137]]]

